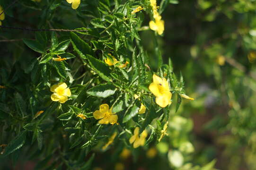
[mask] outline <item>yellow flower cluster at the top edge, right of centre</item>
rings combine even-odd
[[[164,20],[162,20],[161,16],[159,15],[157,11],[157,1],[156,0],[150,0],[150,5],[153,10],[153,18],[155,21],[151,20],[150,21],[150,29],[153,31],[157,31],[159,35],[163,34],[164,32]]]

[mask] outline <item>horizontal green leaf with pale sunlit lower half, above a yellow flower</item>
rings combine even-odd
[[[106,83],[106,84],[101,84],[101,85],[97,85],[94,86],[92,88],[90,88],[87,93],[95,96],[95,97],[103,97],[106,98],[108,96],[111,96],[113,94],[115,94],[115,86],[110,84],[110,83]]]

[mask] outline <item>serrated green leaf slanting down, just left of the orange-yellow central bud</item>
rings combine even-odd
[[[111,82],[110,69],[106,66],[106,64],[91,55],[87,55],[87,59],[90,63],[90,66],[98,73],[98,75],[104,80]]]

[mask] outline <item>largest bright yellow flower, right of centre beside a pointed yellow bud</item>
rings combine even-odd
[[[153,75],[153,83],[150,84],[149,89],[156,96],[156,103],[160,107],[164,108],[171,104],[172,93],[165,78]]]

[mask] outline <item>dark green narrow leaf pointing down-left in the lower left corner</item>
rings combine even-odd
[[[26,131],[22,131],[6,146],[4,156],[13,153],[23,146],[26,140]]]

